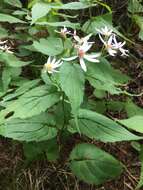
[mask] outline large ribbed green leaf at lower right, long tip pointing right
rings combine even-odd
[[[74,120],[70,122],[72,132],[77,132]],[[115,121],[96,112],[80,109],[78,115],[80,133],[91,139],[102,142],[118,142],[139,140],[142,137],[136,136],[123,128]]]

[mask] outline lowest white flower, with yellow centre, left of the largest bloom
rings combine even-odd
[[[63,64],[63,61],[61,61],[61,60],[56,61],[55,58],[53,58],[53,60],[52,60],[52,58],[49,57],[47,60],[47,63],[45,63],[45,65],[44,65],[44,72],[48,72],[50,74],[52,74],[54,72],[59,72],[56,69],[58,67],[60,67],[62,64]]]

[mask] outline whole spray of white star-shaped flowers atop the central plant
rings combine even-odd
[[[101,29],[96,29],[98,32],[99,38],[101,42],[104,45],[104,49],[107,50],[109,55],[115,56],[119,51],[121,52],[121,56],[128,56],[128,50],[124,49],[123,46],[125,45],[125,41],[122,42],[117,42],[116,35],[113,33],[112,29],[109,29],[107,26],[101,28]],[[89,62],[99,62],[99,57],[101,53],[87,53],[94,42],[90,42],[89,39],[92,36],[92,34],[89,34],[83,38],[80,38],[77,35],[76,30],[74,33],[71,31],[68,31],[66,27],[62,28],[60,31],[56,31],[59,33],[62,37],[66,37],[67,35],[71,35],[74,39],[74,49],[76,54],[67,57],[67,58],[62,58],[64,61],[72,61],[75,59],[79,60],[80,66],[83,69],[83,71],[87,71],[86,63],[85,60]],[[44,65],[44,71],[48,73],[53,73],[53,72],[58,72],[56,69],[62,65],[63,61],[58,60],[56,61],[55,58],[49,57],[47,63]]]

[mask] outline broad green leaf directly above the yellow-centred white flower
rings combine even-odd
[[[34,41],[34,48],[45,55],[55,56],[61,54],[63,51],[63,43],[60,38],[48,37],[47,39],[40,39]]]

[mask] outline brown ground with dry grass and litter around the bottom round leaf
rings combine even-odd
[[[74,137],[76,143],[80,137]],[[78,140],[77,140],[78,139]],[[67,147],[74,141],[67,142]],[[99,187],[78,181],[68,170],[66,159],[63,164],[38,160],[26,165],[22,145],[8,139],[0,140],[0,190],[134,190],[139,180],[140,161],[138,153],[130,143],[92,142],[110,152],[123,164],[124,172],[119,179]],[[73,145],[74,146],[74,145]],[[66,154],[65,154],[66,155]]]

